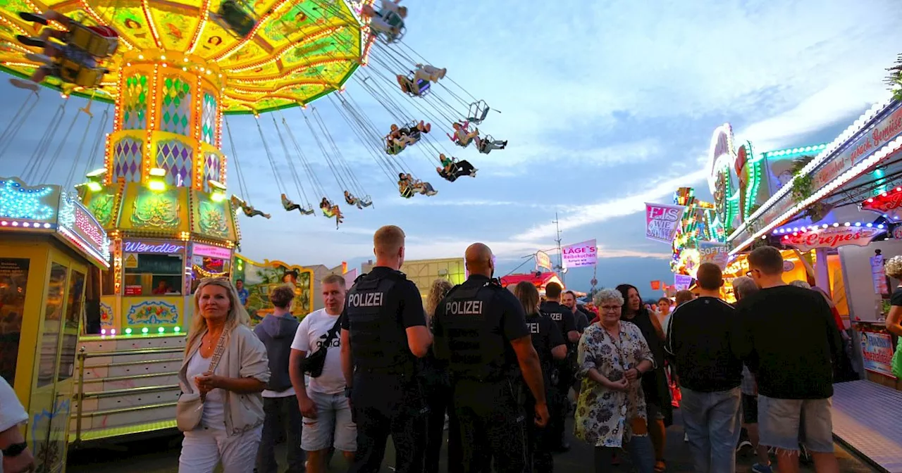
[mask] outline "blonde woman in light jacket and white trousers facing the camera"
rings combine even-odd
[[[200,394],[203,414],[185,432],[179,473],[212,473],[220,463],[224,473],[253,471],[263,423],[261,392],[270,368],[266,347],[248,322],[228,279],[200,282],[179,387],[183,396]],[[179,425],[185,423],[179,419]]]

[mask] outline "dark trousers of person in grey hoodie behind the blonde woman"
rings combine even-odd
[[[288,473],[307,471],[304,460],[307,455],[300,448],[300,430],[303,417],[300,415],[298,398],[295,396],[263,397],[263,432],[260,447],[257,448],[257,473],[276,473],[276,441],[285,434],[288,446]]]

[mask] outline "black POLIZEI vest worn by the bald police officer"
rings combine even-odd
[[[460,285],[442,300],[441,324],[449,339],[448,368],[456,379],[491,382],[516,374],[516,366],[508,361],[509,343],[501,327],[487,320],[490,311],[502,309],[492,305],[503,290],[496,280],[476,287]]]

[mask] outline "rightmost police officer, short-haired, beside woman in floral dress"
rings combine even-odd
[[[570,443],[564,437],[564,419],[570,412],[570,387],[575,379],[576,343],[579,341],[579,332],[576,332],[576,319],[566,305],[561,305],[561,291],[563,288],[557,283],[548,283],[545,287],[546,302],[539,307],[544,314],[548,314],[560,329],[561,335],[566,341],[566,359],[558,361],[557,384],[551,390],[551,425],[548,427],[546,440],[550,442],[549,448],[557,451],[570,450]]]

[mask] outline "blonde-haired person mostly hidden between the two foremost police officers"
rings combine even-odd
[[[432,327],[432,316],[436,314],[436,307],[442,299],[451,292],[451,283],[447,279],[436,279],[429,287],[429,296],[426,298],[426,323]],[[423,359],[423,379],[426,387],[426,400],[429,405],[429,419],[426,431],[426,473],[438,473],[438,458],[442,450],[442,436],[445,432],[445,416],[448,415],[448,471],[452,468],[452,461],[460,459],[461,455],[457,441],[457,426],[454,412],[451,410],[451,380],[447,377],[444,363],[436,359],[432,350]],[[456,453],[456,454],[455,454]]]

